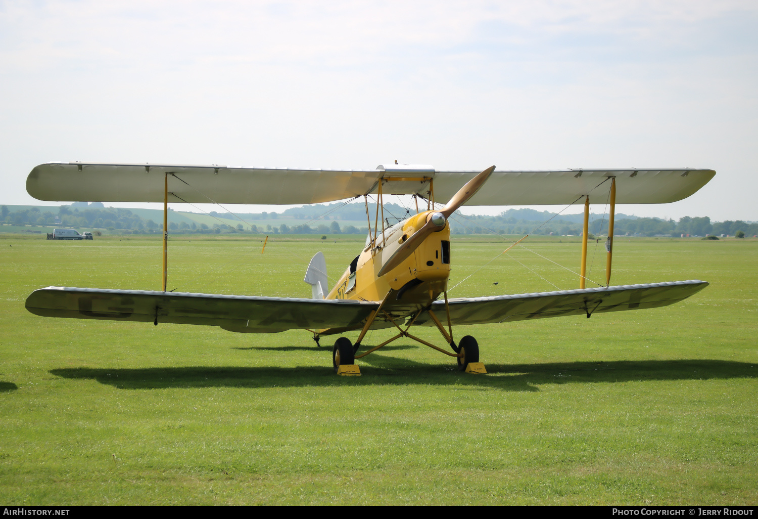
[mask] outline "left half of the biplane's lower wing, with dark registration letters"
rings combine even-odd
[[[221,326],[232,332],[360,328],[379,304],[354,300],[313,300],[139,290],[48,287],[27,297],[38,316],[173,322]]]

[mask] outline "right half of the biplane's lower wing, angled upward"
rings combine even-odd
[[[706,286],[708,283],[694,280],[451,299],[450,320],[454,325],[469,325],[665,307],[696,294]],[[432,310],[445,320],[444,301],[435,301]],[[428,316],[419,316],[417,323],[434,326],[431,319],[425,319]]]

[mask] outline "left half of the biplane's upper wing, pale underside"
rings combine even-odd
[[[299,204],[357,197],[379,171],[235,168],[219,165],[50,162],[34,168],[27,191],[39,200]]]

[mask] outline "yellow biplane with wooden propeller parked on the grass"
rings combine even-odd
[[[332,365],[335,373],[343,375],[360,373],[356,359],[409,338],[455,357],[459,370],[486,373],[478,341],[471,335],[456,340],[455,326],[663,307],[705,288],[708,283],[700,280],[611,286],[613,227],[616,203],[682,200],[713,175],[716,171],[693,168],[498,171],[491,166],[484,171],[437,171],[431,165],[395,163],[346,171],[49,162],[33,168],[27,178],[27,191],[39,200],[163,202],[162,288],[47,287],[33,291],[26,307],[47,317],[219,326],[242,333],[302,329],[312,333],[317,345],[328,335],[360,331],[354,343],[344,336],[334,342]],[[387,195],[411,195],[416,214],[390,225],[383,214]],[[309,204],[361,197],[369,230],[365,246],[331,288],[324,255],[317,253],[305,272],[305,282],[312,288],[309,299],[166,291],[169,202]],[[376,201],[374,215],[369,200]],[[609,202],[606,283],[597,288],[585,286],[590,200]],[[455,263],[449,219],[457,209],[582,202],[584,232],[577,289],[448,297],[448,278]],[[446,347],[416,336],[417,326],[436,327]],[[397,330],[392,338],[360,350],[369,330],[388,328]]]

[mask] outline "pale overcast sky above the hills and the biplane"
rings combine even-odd
[[[755,0],[0,2],[0,203],[49,161],[398,159],[713,168],[617,210],[758,220],[756,27]]]

